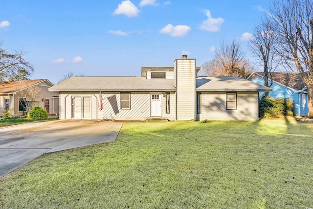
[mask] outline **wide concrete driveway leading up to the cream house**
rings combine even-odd
[[[0,178],[45,153],[113,141],[122,125],[98,120],[54,120],[0,128]]]

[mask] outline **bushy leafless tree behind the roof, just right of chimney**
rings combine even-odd
[[[202,64],[199,75],[202,76],[238,76],[247,78],[253,68],[245,59],[240,43],[232,41],[226,44],[221,41],[221,47],[215,51],[215,57]]]

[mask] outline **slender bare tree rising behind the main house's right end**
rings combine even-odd
[[[254,27],[253,39],[248,44],[252,54],[257,57],[256,65],[263,67],[264,86],[267,87],[272,85],[272,73],[281,64],[281,57],[275,50],[274,30],[275,25],[262,20]],[[268,92],[265,96],[268,97]]]

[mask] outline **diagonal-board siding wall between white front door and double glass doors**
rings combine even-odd
[[[116,96],[118,111],[115,115],[113,108],[107,99]],[[150,93],[131,93],[131,109],[120,109],[120,93],[102,93],[103,110],[99,111],[98,118],[136,118],[150,116]]]

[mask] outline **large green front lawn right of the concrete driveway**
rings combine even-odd
[[[124,123],[0,179],[0,208],[313,208],[313,123]]]

